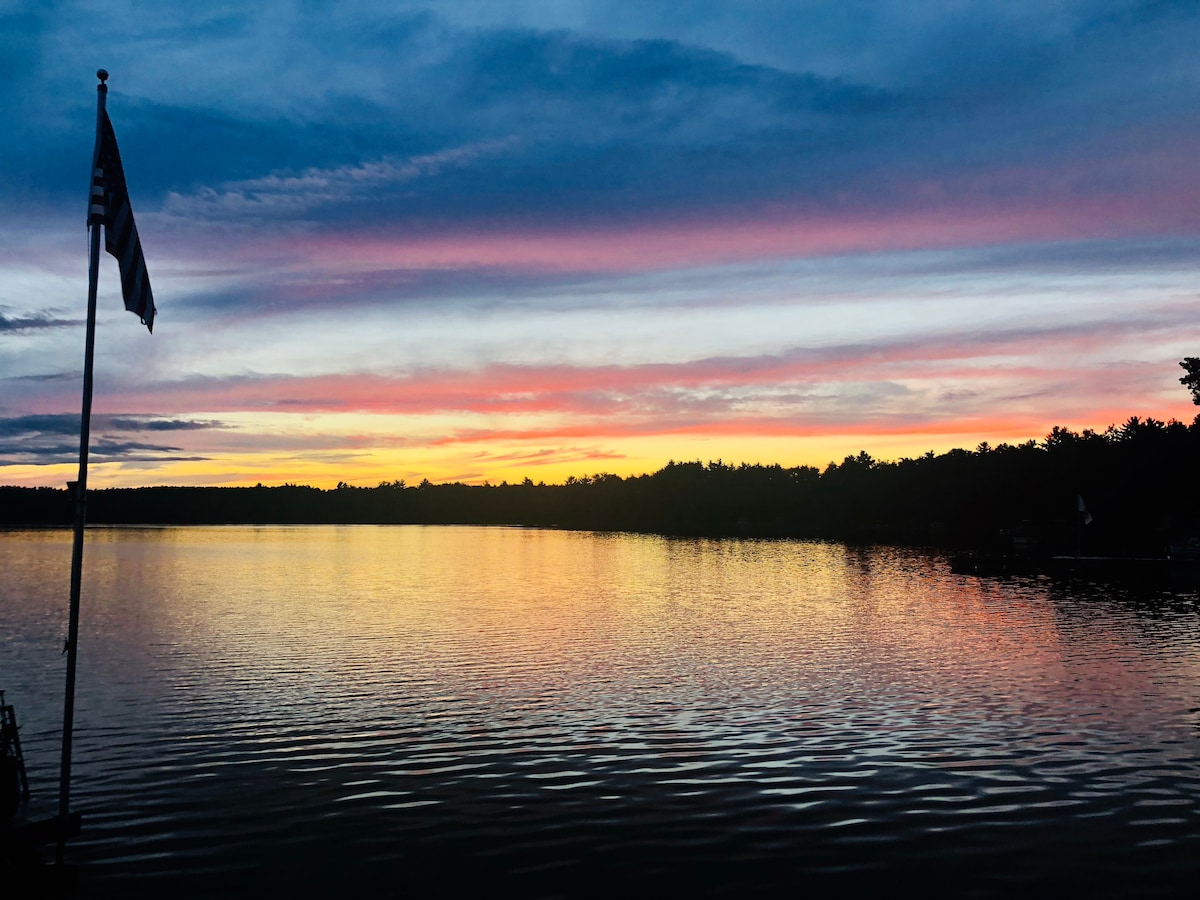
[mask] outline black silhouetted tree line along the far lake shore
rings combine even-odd
[[[341,482],[90,491],[102,524],[497,524],[688,536],[808,538],[1008,552],[1158,554],[1200,534],[1200,416],[811,466],[671,461],[560,485]],[[1086,514],[1084,510],[1086,509]],[[68,526],[66,490],[0,487],[0,524]],[[1086,523],[1085,523],[1086,521]]]

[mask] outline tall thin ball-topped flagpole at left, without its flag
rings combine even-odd
[[[103,68],[96,72],[100,84],[96,85],[96,149],[92,152],[92,179],[98,162],[100,144],[104,122],[104,101],[108,98],[108,72]],[[92,180],[90,179],[90,180]],[[65,826],[71,812],[71,737],[74,726],[74,682],[76,659],[79,644],[79,584],[83,578],[83,533],[88,521],[88,440],[91,433],[91,371],[96,349],[96,283],[100,275],[100,230],[101,223],[92,221],[89,197],[88,228],[91,247],[88,257],[88,334],[84,340],[83,355],[83,410],[79,421],[79,476],[74,484],[74,542],[71,547],[71,613],[67,624],[67,683],[62,704],[62,767],[59,774],[59,816]],[[62,862],[64,839],[59,838],[58,862]]]

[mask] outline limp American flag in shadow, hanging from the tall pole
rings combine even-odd
[[[125,169],[116,150],[116,134],[108,113],[103,114],[100,146],[96,148],[96,164],[91,173],[91,208],[89,226],[104,226],[104,250],[116,257],[121,270],[121,295],[125,308],[137,313],[142,324],[154,331],[154,294],[146,260],[142,256],[142,241],[133,223],[133,208],[125,186]]]

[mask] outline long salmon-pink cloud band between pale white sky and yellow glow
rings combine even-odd
[[[763,389],[797,392],[839,383],[1076,384],[1096,392],[1120,389],[1153,396],[1156,373],[1130,382],[1127,368],[1082,370],[1073,358],[1100,344],[1105,329],[948,336],[884,346],[796,350],[778,355],[731,356],[683,364],[632,366],[497,365],[478,370],[420,371],[413,374],[254,376],[162,383],[134,388],[107,402],[125,410],[161,408],[166,397],[176,410],[362,412],[362,413],[636,413],[640,408],[702,408],[697,392],[718,398],[762,397]],[[990,362],[1010,356],[1022,362]],[[1040,360],[1055,360],[1052,364]],[[1171,373],[1174,374],[1174,372]],[[1082,385],[1086,388],[1087,385]],[[740,395],[739,395],[740,392]],[[1078,398],[1078,397],[1076,397]],[[109,409],[107,412],[118,412]]]

